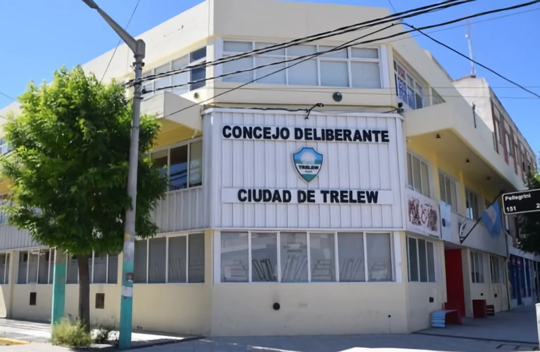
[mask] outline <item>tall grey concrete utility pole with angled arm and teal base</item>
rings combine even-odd
[[[133,120],[131,125],[131,144],[127,177],[127,195],[131,197],[131,208],[126,210],[124,223],[124,260],[122,263],[122,298],[120,299],[120,336],[118,347],[120,349],[131,348],[131,313],[133,309],[133,258],[135,252],[135,209],[137,204],[137,167],[139,161],[139,120],[141,85],[139,79],[143,76],[143,59],[145,55],[145,43],[142,39],[135,39],[129,35],[118,23],[105,13],[93,0],[83,0],[91,9],[99,12],[99,15],[111,26],[122,38],[124,43],[133,51],[135,62],[135,83],[133,89]]]

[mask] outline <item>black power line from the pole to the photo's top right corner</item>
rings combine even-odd
[[[516,5],[518,7],[523,7],[523,6],[526,6],[526,5],[530,5],[530,4],[533,4],[533,3],[536,3],[536,0],[535,1],[532,1],[530,3],[526,3],[526,4],[521,4],[521,5]],[[501,11],[506,11],[508,9],[514,9],[516,8],[516,6],[510,6],[509,8],[502,8],[502,9],[495,9],[495,10],[490,10],[490,11],[485,11],[485,12],[480,12],[480,13],[476,13],[474,15],[470,15],[470,16],[466,16],[466,17],[461,17],[461,18],[457,18],[457,19],[453,19],[451,21],[447,21],[447,22],[444,22],[444,23],[438,23],[438,24],[433,24],[433,25],[428,25],[428,26],[423,26],[421,27],[420,29],[429,29],[429,28],[435,28],[435,27],[439,27],[439,26],[443,26],[443,25],[447,25],[447,24],[451,24],[451,23],[456,23],[456,22],[460,22],[460,21],[463,21],[464,19],[468,19],[468,18],[474,18],[474,17],[479,17],[479,16],[484,16],[484,15],[487,15],[489,13],[496,13],[496,12],[501,12]],[[390,22],[387,20],[387,22]],[[366,36],[369,36],[369,35],[372,35],[374,33],[377,33],[377,32],[380,32],[380,31],[383,31],[383,30],[386,30],[394,25],[396,25],[397,23],[393,23],[393,24],[390,24],[382,29],[379,29],[375,32],[371,32],[369,33],[368,35]],[[363,42],[359,42],[359,43],[352,43],[352,42],[355,42],[356,40],[359,40],[361,38],[364,38],[366,36],[362,36],[360,38],[356,38],[356,39],[353,39],[353,40],[350,40],[349,42],[345,43],[345,44],[342,44],[336,48],[340,48],[341,49],[345,49],[345,48],[349,48],[350,46],[354,46],[354,45],[359,45],[359,44],[368,44],[368,43],[373,43],[373,42],[379,42],[383,39],[388,39],[388,38],[393,38],[393,37],[397,37],[397,36],[401,36],[401,35],[404,35],[404,34],[407,34],[407,33],[411,33],[411,32],[415,32],[417,31],[417,29],[415,29],[414,27],[411,27],[413,28],[412,30],[409,30],[409,31],[402,31],[402,32],[399,32],[399,33],[394,33],[393,35],[389,35],[389,36],[386,36],[386,37],[382,37],[382,38],[377,38],[377,39],[370,39],[370,40],[365,40]],[[352,44],[351,44],[352,43]],[[208,80],[212,80],[212,79],[217,79],[217,78],[222,78],[222,77],[227,77],[227,76],[232,76],[232,75],[239,75],[240,73],[245,73],[245,72],[251,72],[251,71],[254,71],[254,70],[260,70],[262,68],[265,68],[265,67],[268,67],[268,66],[275,66],[275,65],[281,65],[281,64],[287,64],[289,62],[293,62],[293,61],[297,61],[299,59],[303,59],[303,58],[314,58],[316,56],[320,56],[320,55],[323,55],[327,52],[331,52],[331,51],[336,51],[338,49],[332,49],[332,50],[328,50],[328,51],[323,51],[323,52],[316,52],[316,53],[313,53],[313,54],[309,54],[309,55],[303,55],[303,56],[298,56],[298,57],[294,57],[294,58],[291,58],[291,59],[285,59],[285,60],[281,60],[281,61],[278,61],[278,62],[272,62],[272,63],[269,63],[269,64],[265,64],[265,65],[259,65],[259,66],[255,66],[255,67],[251,67],[249,69],[244,69],[244,70],[237,70],[237,71],[233,71],[233,72],[227,72],[227,73],[223,73],[222,75],[218,75],[218,76],[214,76],[214,77],[208,77],[208,78],[201,78],[201,79],[198,79],[198,80],[193,80],[193,81],[190,81],[190,82],[187,82],[187,83],[182,83],[182,84],[176,84],[176,85],[170,85],[170,86],[165,86],[165,87],[160,87],[158,89],[154,89],[152,90],[151,92],[157,92],[157,91],[161,91],[161,90],[166,90],[166,89],[171,89],[171,88],[178,88],[178,87],[182,87],[182,86],[186,86],[186,85],[189,85],[189,84],[195,84],[195,83],[202,83],[202,82],[206,82]],[[313,56],[315,55],[315,56]],[[284,67],[284,70],[287,69],[287,67],[291,67],[291,65],[289,66],[286,66]],[[280,71],[276,71],[276,72],[280,72]],[[166,76],[163,76],[160,78],[164,78],[164,77],[167,77],[167,76],[171,76],[172,74],[169,74],[169,75],[166,75]]]

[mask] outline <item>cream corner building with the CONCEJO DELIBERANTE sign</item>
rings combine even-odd
[[[207,0],[140,36],[145,75],[387,15],[361,6]],[[394,26],[384,36],[402,30]],[[505,236],[492,238],[480,224],[461,245],[459,233],[500,189],[522,189],[523,178],[494,150],[489,125],[411,37],[335,51],[234,91],[228,90],[284,66],[152,92],[357,36],[145,84],[143,112],[163,124],[153,158],[167,167],[171,186],[154,212],[160,233],[136,242],[134,328],[407,333],[428,327],[445,302],[467,315],[474,299],[508,309]],[[101,76],[111,55],[83,69]],[[132,78],[130,57],[120,46],[105,78]],[[309,117],[299,110],[316,103],[324,107]],[[399,103],[403,114],[394,112]],[[7,185],[0,183],[0,191]],[[440,202],[448,209],[442,229]],[[3,224],[0,252],[0,313],[50,319],[53,251]],[[92,260],[95,322],[118,323],[119,262],[122,254]],[[76,265],[68,260],[72,315]]]

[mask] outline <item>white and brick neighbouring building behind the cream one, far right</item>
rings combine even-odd
[[[471,106],[475,106],[476,112],[490,128],[495,151],[514,168],[518,177],[526,181],[527,174],[537,168],[536,155],[485,78],[463,77],[456,80],[454,86]],[[539,300],[537,277],[540,256],[523,253],[516,247],[521,235],[517,216],[504,215],[503,223],[509,236],[511,307],[535,303]]]

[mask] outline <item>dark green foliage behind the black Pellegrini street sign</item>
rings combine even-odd
[[[540,175],[532,172],[527,178],[528,189],[540,188]],[[523,252],[540,254],[540,212],[518,215],[521,238],[517,246]]]

